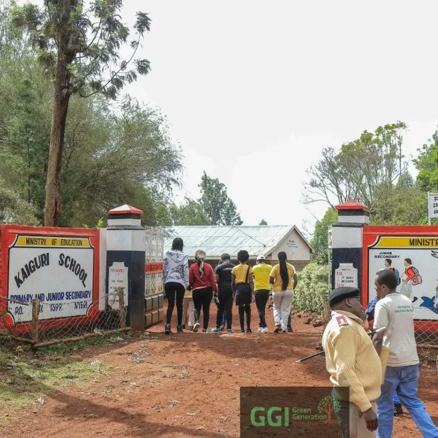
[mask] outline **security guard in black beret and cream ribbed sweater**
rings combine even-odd
[[[336,288],[329,295],[331,319],[322,335],[326,367],[340,399],[337,418],[343,438],[375,437],[376,398],[380,395],[382,366],[364,330],[360,291]],[[349,403],[338,387],[349,387]],[[348,393],[347,393],[348,394]]]

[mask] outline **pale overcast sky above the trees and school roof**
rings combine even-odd
[[[205,170],[244,224],[301,227],[327,208],[300,203],[323,147],[402,120],[416,156],[438,123],[438,2],[124,3],[126,23],[139,8],[152,20],[151,72],[126,90],[162,109],[183,148],[179,200],[199,196]]]

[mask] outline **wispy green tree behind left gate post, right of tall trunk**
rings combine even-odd
[[[115,109],[100,96],[73,97],[65,136],[62,224],[95,223],[114,206],[141,208],[149,225],[168,224],[181,151],[157,109],[125,98]]]

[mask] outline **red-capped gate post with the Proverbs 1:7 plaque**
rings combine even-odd
[[[143,211],[130,205],[122,205],[108,212],[106,228],[106,293],[108,305],[119,308],[118,288],[127,291],[126,326],[144,330],[144,227],[141,226]],[[123,311],[119,309],[120,311]]]

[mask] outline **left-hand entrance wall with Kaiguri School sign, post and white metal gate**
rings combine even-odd
[[[100,230],[0,226],[0,330],[37,348],[163,318],[163,232],[123,205]]]

